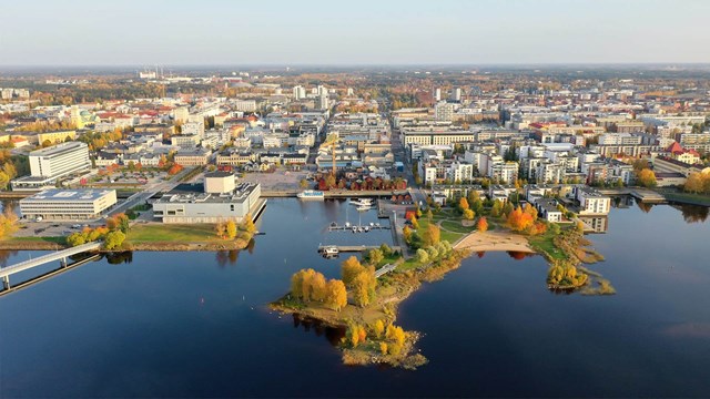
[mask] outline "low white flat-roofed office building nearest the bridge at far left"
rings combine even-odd
[[[115,203],[115,190],[50,188],[20,200],[20,213],[29,219],[85,221],[99,218]]]

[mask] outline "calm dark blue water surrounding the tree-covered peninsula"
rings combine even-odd
[[[611,297],[549,293],[539,256],[466,259],[402,307],[430,359],[412,372],[342,366],[338,331],[264,306],[300,268],[338,275],[320,243],[390,241],[325,232],[347,206],[271,201],[251,252],[135,253],[0,297],[0,397],[710,396],[698,209],[612,211],[590,236]]]

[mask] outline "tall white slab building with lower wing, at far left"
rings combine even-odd
[[[39,190],[53,185],[62,176],[91,167],[89,146],[80,142],[32,151],[29,161],[30,175],[13,180],[13,190]]]

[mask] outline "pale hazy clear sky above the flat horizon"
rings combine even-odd
[[[1,0],[0,65],[707,63],[706,0]]]

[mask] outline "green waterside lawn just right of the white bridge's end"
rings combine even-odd
[[[128,242],[130,243],[210,243],[221,241],[212,224],[165,225],[165,224],[138,224],[131,226]]]

